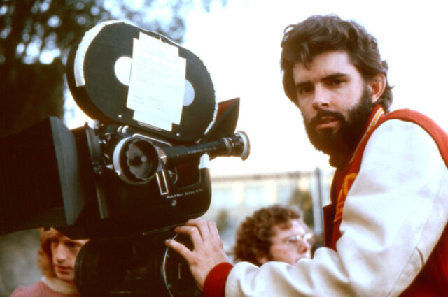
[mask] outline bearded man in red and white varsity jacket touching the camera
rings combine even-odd
[[[283,87],[336,172],[325,247],[293,266],[228,263],[213,222],[176,229],[204,296],[446,296],[448,136],[412,110],[388,113],[388,65],[365,28],[335,15],[286,28]]]

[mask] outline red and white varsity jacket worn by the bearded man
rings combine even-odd
[[[365,131],[333,180],[328,247],[294,266],[221,263],[204,297],[446,294],[447,136],[419,113],[379,106]]]

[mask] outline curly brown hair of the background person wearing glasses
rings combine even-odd
[[[257,258],[269,254],[271,238],[274,236],[272,227],[276,224],[287,224],[286,228],[289,228],[291,219],[301,217],[296,208],[281,205],[272,205],[255,211],[239,225],[234,248],[235,261],[246,261],[261,266]]]

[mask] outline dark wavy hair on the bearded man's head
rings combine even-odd
[[[344,21],[337,15],[313,15],[298,24],[286,27],[281,41],[281,72],[286,96],[297,105],[293,68],[297,63],[305,67],[316,55],[330,51],[346,52],[358,68],[365,82],[383,73],[386,89],[376,104],[387,113],[393,96],[387,82],[388,64],[381,60],[377,39],[354,21]]]

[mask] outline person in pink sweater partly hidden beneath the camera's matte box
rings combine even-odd
[[[10,297],[79,296],[75,284],[75,260],[87,240],[72,240],[55,229],[41,229],[38,266],[42,279],[29,287],[18,287]]]

